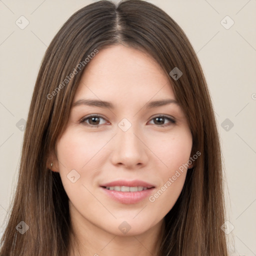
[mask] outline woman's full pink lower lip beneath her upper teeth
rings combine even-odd
[[[122,192],[122,191],[115,191],[115,190],[109,190],[104,187],[100,187],[103,192],[105,192],[108,196],[110,196],[112,199],[120,202],[120,203],[126,203],[126,204],[132,204],[137,203],[146,197],[149,197],[151,194],[153,187],[142,190],[142,191],[135,191],[135,192]]]

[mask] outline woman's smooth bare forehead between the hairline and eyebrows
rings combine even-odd
[[[74,96],[108,101],[175,99],[166,74],[147,53],[123,45],[111,45],[87,63]]]

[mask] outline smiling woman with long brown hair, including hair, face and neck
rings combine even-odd
[[[227,255],[219,138],[192,46],[141,0],[75,12],[44,55],[1,255]]]

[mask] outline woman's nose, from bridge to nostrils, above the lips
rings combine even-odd
[[[113,138],[111,161],[114,165],[123,165],[128,169],[137,169],[148,161],[147,147],[143,136],[135,125],[123,131],[117,127],[117,134]]]

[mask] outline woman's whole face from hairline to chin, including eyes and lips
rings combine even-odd
[[[140,234],[177,200],[192,137],[167,75],[123,45],[100,49],[87,63],[55,165],[80,225]]]

